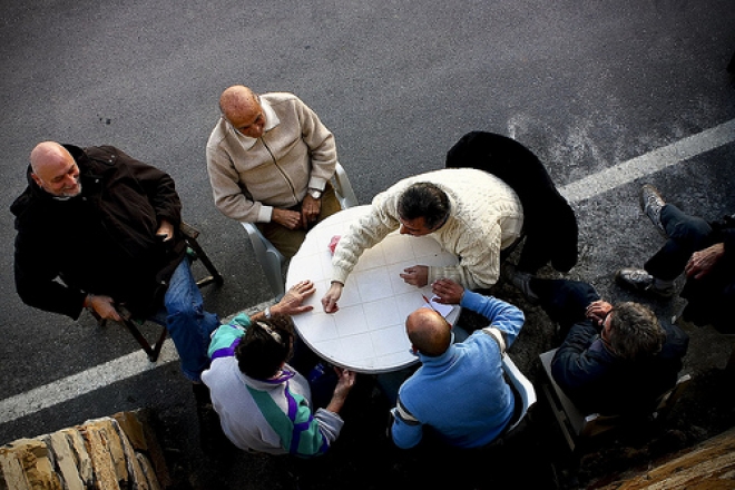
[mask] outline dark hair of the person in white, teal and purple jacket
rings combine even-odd
[[[290,316],[274,315],[253,322],[235,347],[239,370],[256,380],[275,375],[292,354],[294,323]]]

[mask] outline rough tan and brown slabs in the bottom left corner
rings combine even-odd
[[[0,448],[0,489],[165,489],[170,478],[144,412],[121,412]]]

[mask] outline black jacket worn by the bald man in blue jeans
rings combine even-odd
[[[170,176],[111,146],[65,145],[81,194],[53,198],[30,177],[16,215],[16,287],[35,307],[79,317],[87,293],[111,296],[135,315],[155,311],[186,254],[182,204]],[[163,243],[163,219],[175,227]]]

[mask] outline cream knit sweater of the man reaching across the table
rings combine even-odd
[[[351,225],[332,257],[332,281],[345,283],[365,248],[400,226],[398,202],[419,182],[439,186],[449,196],[451,215],[431,236],[460,257],[457,266],[429,267],[429,284],[439,278],[468,288],[490,287],[500,274],[500,251],[521,233],[523,209],[516,193],[496,176],[469,168],[449,168],[409,177],[375,196],[371,212]],[[425,265],[425,264],[418,264]]]

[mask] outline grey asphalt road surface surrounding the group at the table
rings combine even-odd
[[[204,145],[225,87],[298,95],[335,134],[362,203],[400,178],[441,168],[447,150],[471,130],[514,137],[565,188],[735,119],[735,84],[725,70],[735,51],[734,7],[732,0],[6,0],[0,204],[8,209],[22,192],[28,155],[45,139],[111,144],[159,166],[176,180],[185,219],[202,231],[225,276],[205,296],[208,310],[226,316],[271,294],[244,232],[212,202]],[[611,301],[633,298],[612,284],[614,272],[643,264],[660,244],[638,209],[640,185],[653,183],[707,218],[732,213],[733,140],[572,202],[580,255],[569,276]],[[23,305],[13,286],[13,238],[12,216],[0,213],[8,251],[0,264],[0,400],[26,400],[41,386],[41,398],[57,396],[59,380],[138,350],[116,325]],[[494,294],[527,311],[511,355],[536,381],[537,355],[555,346],[553,325],[513,290],[501,284]],[[680,306],[646,303],[663,317]],[[192,389],[176,362],[92,391],[81,386],[78,396],[42,410],[27,404],[22,416],[0,423],[0,443],[148,406],[182,489],[418,488],[448,474],[455,488],[581,488],[735,424],[733,380],[722,372],[731,344],[707,329],[690,335],[686,370],[695,382],[664,435],[616,440],[579,460],[564,457],[542,403],[528,430],[496,452],[398,451],[382,439],[386,406],[370,379],[361,383],[363,398],[355,396],[362,403],[346,410],[333,453],[314,464],[215,450],[207,445],[212,428],[199,435]]]

